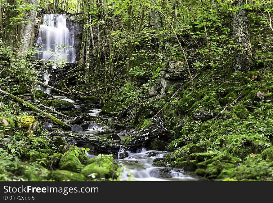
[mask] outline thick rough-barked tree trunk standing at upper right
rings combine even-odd
[[[232,6],[239,7],[239,11],[232,14],[232,29],[236,47],[232,67],[235,72],[247,72],[253,67],[253,57],[248,33],[247,11],[243,9],[246,0],[235,0]]]

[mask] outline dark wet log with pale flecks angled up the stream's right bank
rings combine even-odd
[[[145,146],[151,139],[168,138],[170,132],[167,129],[167,123],[160,116],[152,118],[152,124],[144,129],[132,133],[120,142],[120,145],[130,151],[136,151],[138,148]]]

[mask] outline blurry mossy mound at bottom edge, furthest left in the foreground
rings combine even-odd
[[[47,180],[49,171],[38,163],[29,164],[21,161],[16,161],[14,165],[16,165],[16,167],[14,168],[14,174],[17,177],[21,177],[25,181]]]

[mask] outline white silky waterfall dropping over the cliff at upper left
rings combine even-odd
[[[70,32],[66,27],[66,15],[43,15],[43,24],[40,25],[36,46],[39,51],[39,53],[35,54],[36,60],[75,62],[74,22]]]

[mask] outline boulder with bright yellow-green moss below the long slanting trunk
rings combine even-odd
[[[21,115],[17,116],[19,120],[19,127],[29,135],[32,135],[37,128],[37,121],[33,116]]]

